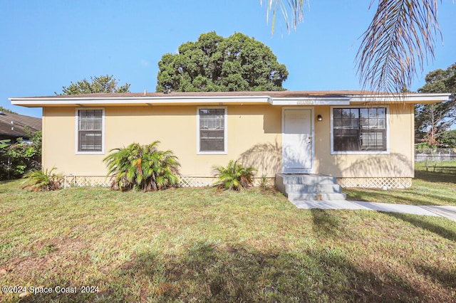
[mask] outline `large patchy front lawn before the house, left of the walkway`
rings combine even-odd
[[[298,210],[258,188],[17,188],[0,184],[0,301],[456,300],[445,218]]]

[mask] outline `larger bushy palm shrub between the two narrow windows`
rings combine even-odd
[[[113,176],[111,189],[157,191],[179,184],[177,156],[172,151],[159,151],[159,141],[152,144],[130,144],[112,149],[103,159],[108,176]]]

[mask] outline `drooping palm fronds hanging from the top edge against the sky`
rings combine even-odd
[[[308,1],[265,0],[266,18],[272,15],[272,31],[276,14],[284,16],[287,28],[290,28],[290,23],[296,28],[296,24],[304,19],[304,3]],[[375,2],[371,0],[369,8]],[[411,87],[417,66],[423,70],[427,58],[434,58],[435,37],[440,33],[437,2],[378,0],[377,11],[363,33],[356,55],[363,89],[401,92],[404,87]]]

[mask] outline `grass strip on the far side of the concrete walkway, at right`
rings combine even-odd
[[[405,189],[346,188],[347,200],[408,205],[456,206],[456,162],[415,164],[412,187]]]

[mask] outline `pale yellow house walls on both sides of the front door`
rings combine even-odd
[[[170,149],[179,158],[182,176],[210,177],[212,166],[224,166],[230,159],[259,169],[257,176],[274,177],[281,171],[280,106],[227,106],[228,154],[219,155],[197,154],[195,105],[104,109],[105,154],[76,154],[76,107],[44,108],[43,166],[56,166],[61,174],[105,176],[103,158],[110,149],[159,140],[159,149]],[[315,172],[338,178],[413,177],[413,105],[389,105],[388,113],[389,154],[335,155],[331,154],[331,107],[315,106]],[[316,120],[318,115],[323,121]]]

